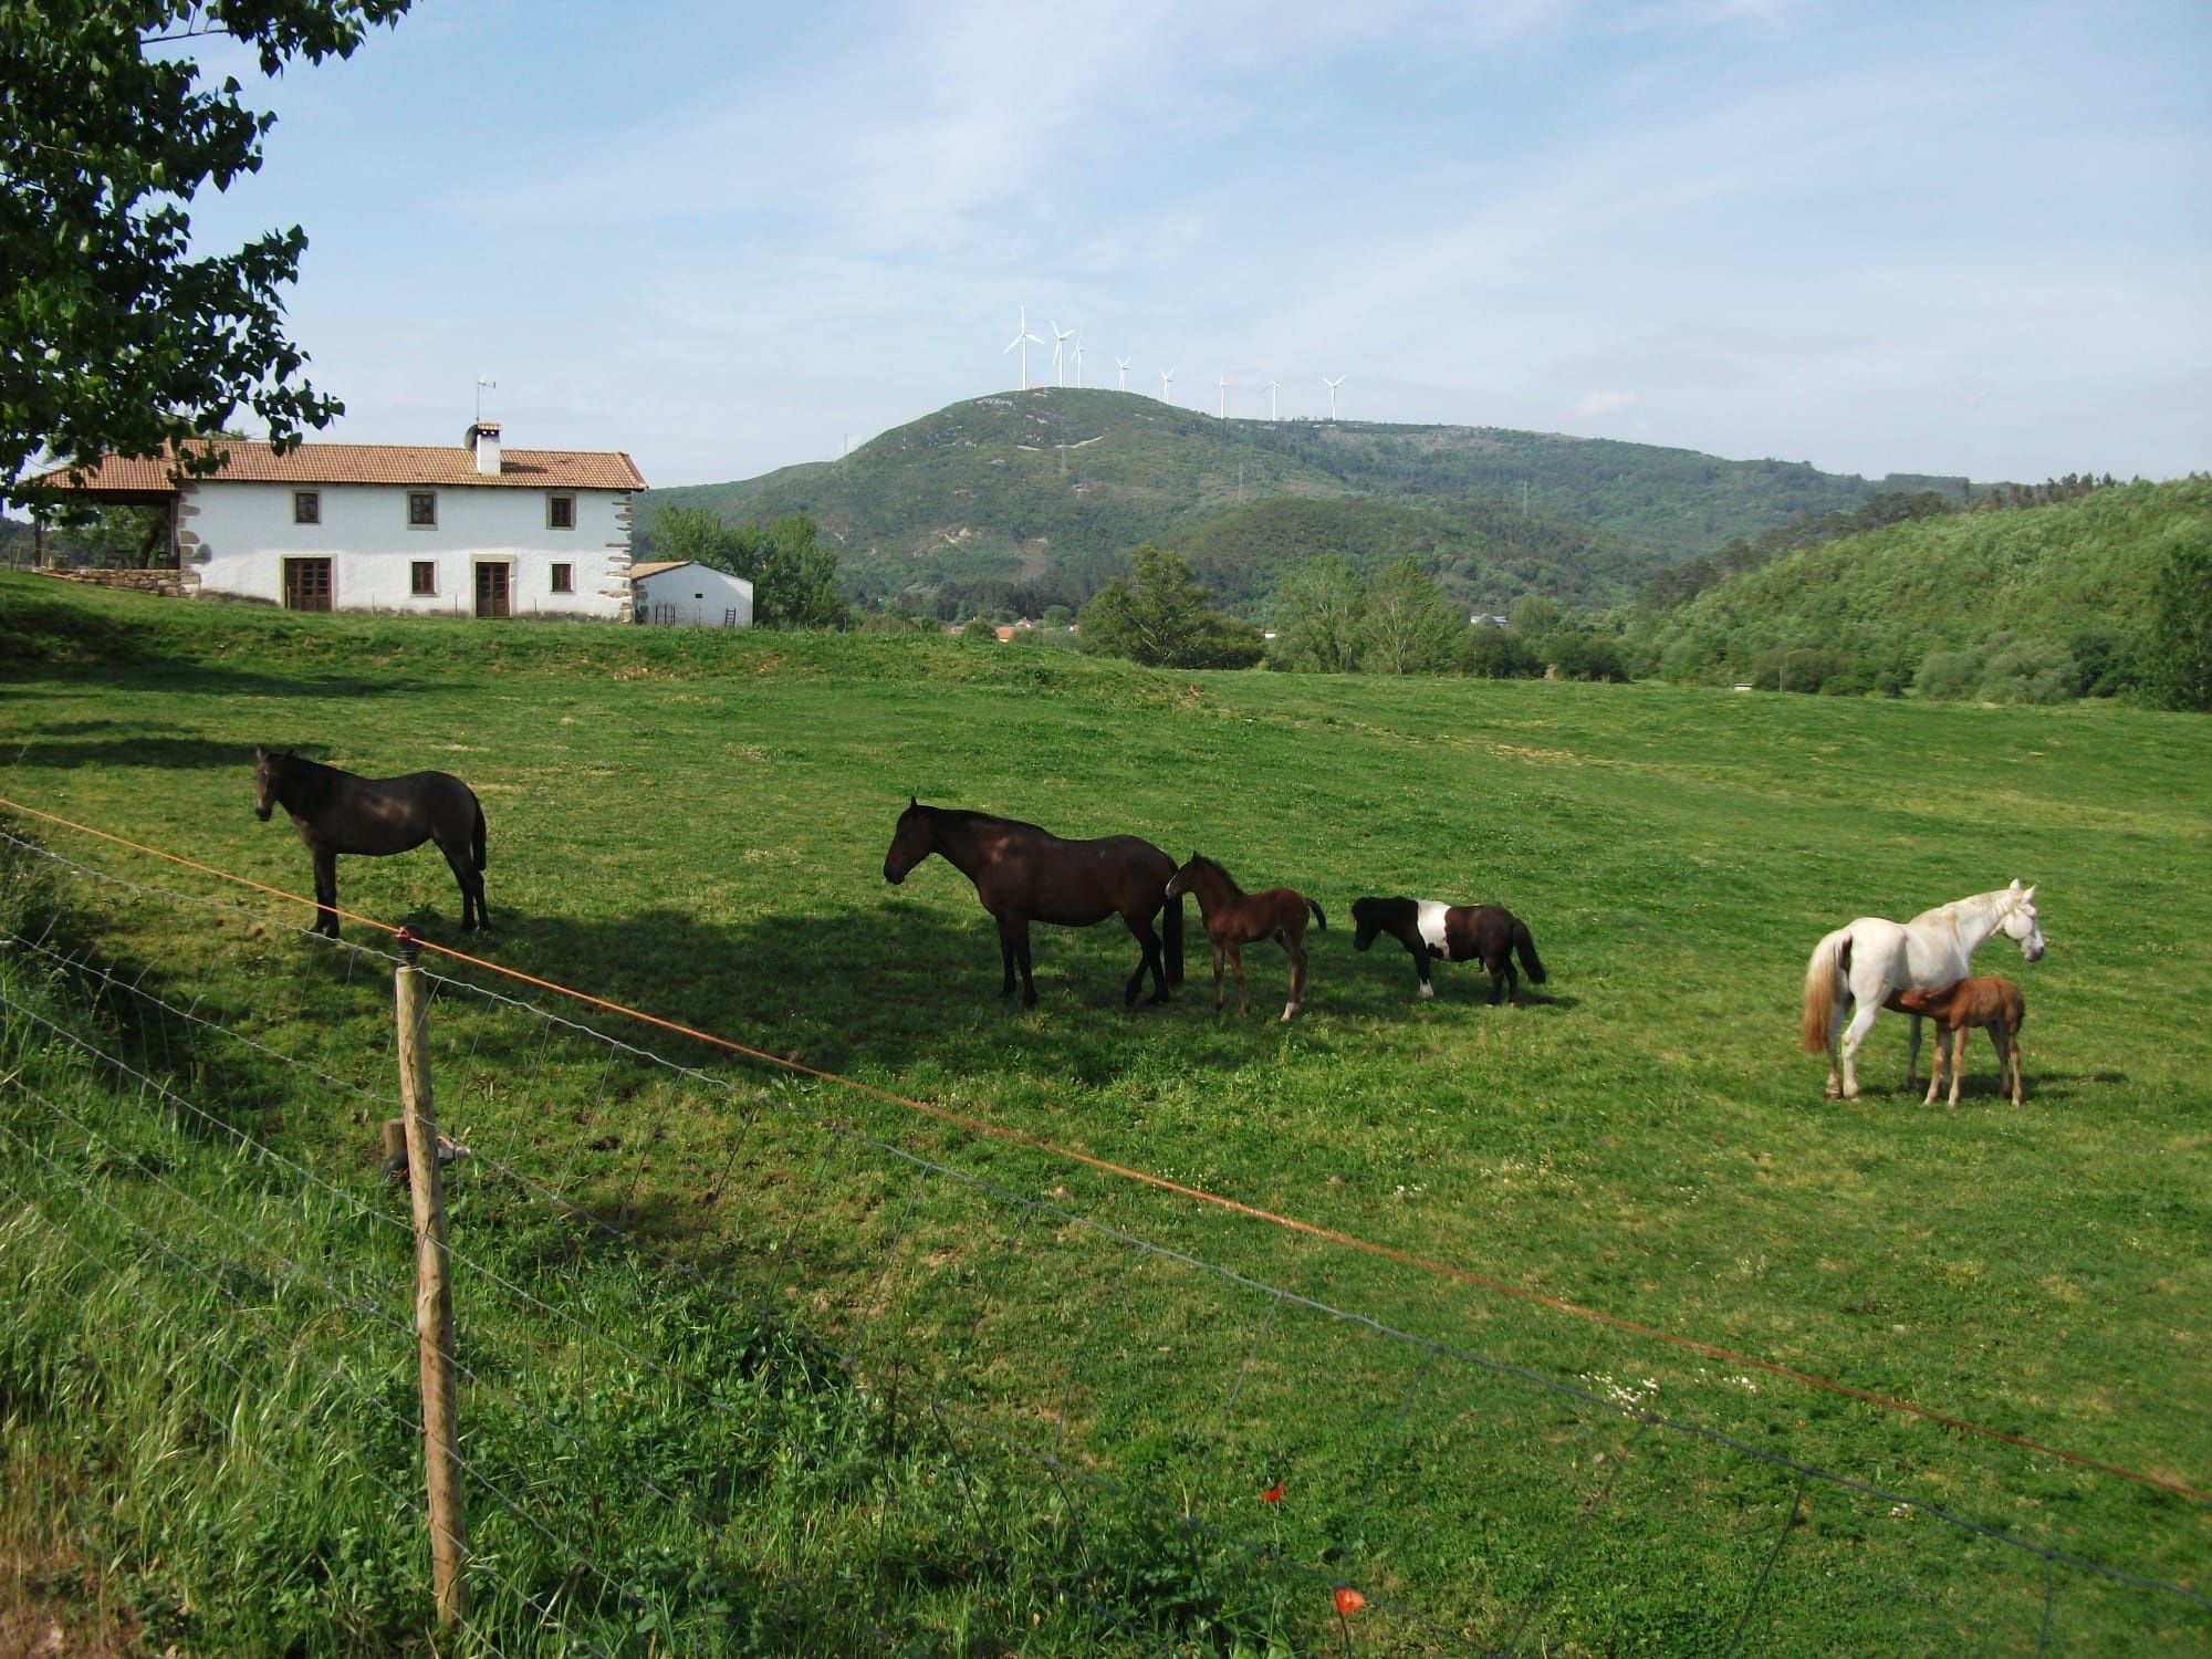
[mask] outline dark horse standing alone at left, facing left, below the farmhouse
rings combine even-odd
[[[449,772],[363,779],[299,754],[254,750],[254,816],[283,807],[314,858],[314,931],[338,938],[338,854],[372,858],[436,841],[460,883],[460,931],[491,927],[484,909],[484,810]]]

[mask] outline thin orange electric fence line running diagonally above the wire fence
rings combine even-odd
[[[24,805],[20,801],[9,801],[7,796],[0,796],[0,807],[7,807],[11,812],[22,812],[22,814],[27,814],[31,818],[42,818],[44,823],[60,825],[62,830],[75,830],[77,834],[95,836],[97,841],[108,841],[108,843],[113,843],[117,847],[128,847],[131,852],[142,852],[148,858],[161,858],[164,863],[181,865],[184,869],[197,869],[204,876],[215,876],[217,880],[228,880],[228,883],[232,883],[237,887],[250,887],[252,891],[268,894],[270,898],[283,898],[283,900],[294,902],[294,905],[314,907],[312,898],[301,898],[299,894],[288,894],[281,887],[270,887],[268,883],[252,880],[250,876],[237,876],[237,874],[232,874],[228,869],[217,869],[215,865],[201,865],[201,863],[197,863],[192,858],[184,858],[179,854],[164,852],[161,847],[148,847],[144,843],[128,841],[124,836],[111,834],[106,830],[95,830],[88,823],[75,823],[71,818],[55,816],[53,812],[42,812],[40,807],[31,807],[31,805]],[[562,984],[560,980],[542,980],[535,973],[524,973],[522,969],[511,969],[511,967],[504,967],[500,962],[491,962],[491,960],[487,960],[482,956],[469,956],[467,951],[456,951],[451,945],[436,945],[434,940],[420,938],[420,936],[407,931],[405,927],[394,927],[392,922],[380,922],[374,916],[358,916],[358,914],[347,911],[347,909],[334,909],[334,914],[338,918],[347,920],[347,922],[361,922],[363,927],[374,927],[380,933],[392,933],[394,938],[403,938],[409,945],[418,945],[425,951],[436,951],[438,956],[445,956],[445,958],[449,958],[453,962],[467,962],[469,967],[484,969],[487,973],[495,973],[495,975],[500,975],[504,980],[515,980],[520,984],[533,984],[540,991],[553,991],[555,995],[571,998],[571,1000],[582,1002],[582,1004],[593,1006],[593,1009],[604,1009],[606,1013],[617,1013],[624,1020],[637,1020],[641,1024],[657,1026],[659,1031],[670,1031],[670,1033],[675,1033],[679,1037],[692,1037],[695,1042],[703,1042],[703,1044],[708,1044],[712,1048],[721,1048],[721,1051],[732,1053],[732,1055],[743,1055],[745,1060],[759,1060],[765,1066],[779,1066],[781,1071],[792,1071],[792,1073],[799,1073],[803,1077],[816,1077],[816,1079],[821,1079],[825,1084],[836,1084],[838,1088],[849,1088],[854,1093],[869,1095],[869,1097],[880,1099],[880,1102],[885,1102],[889,1106],[900,1106],[905,1110],[914,1110],[914,1113],[922,1113],[927,1117],[936,1117],[936,1119],[940,1119],[945,1124],[953,1124],[953,1126],[964,1128],[964,1130],[969,1130],[973,1135],[984,1135],[989,1139],[1009,1141],[1013,1146],[1026,1146],[1033,1152],[1046,1152],[1048,1157],[1062,1157],[1062,1159],[1068,1159],[1073,1164],[1084,1164],[1084,1166],[1088,1166],[1093,1170],[1102,1170],[1104,1175],[1113,1175],[1113,1177],[1119,1177],[1119,1179],[1126,1179],[1126,1181],[1141,1181],[1144,1186],[1159,1188],[1161,1192],[1175,1192],[1177,1197],[1192,1199],[1194,1203],[1210,1203],[1210,1206],[1214,1206],[1219,1210],[1230,1210],[1234,1214],[1252,1217],[1254,1221],[1265,1221],[1270,1225],[1305,1234],[1307,1239],[1323,1239],[1325,1243],[1343,1245],[1345,1250],[1360,1250],[1360,1252],[1365,1252],[1369,1256],[1380,1256],[1385,1261],[1396,1261],[1396,1263],[1400,1263],[1405,1267],[1416,1267],[1416,1270],[1420,1270],[1425,1274],[1436,1274],[1438,1279],[1451,1279],[1451,1281],[1462,1283],[1462,1285],[1473,1285],[1478,1290],[1489,1290],[1489,1292],[1495,1292],[1500,1296],[1513,1296],[1517,1301],[1533,1303],[1537,1307],[1548,1307],[1548,1310],[1559,1312],[1559,1314],[1571,1314],[1575,1318],[1586,1318],[1593,1325],[1610,1325],[1613,1329],[1628,1332],[1630,1336],[1644,1336],[1644,1338],[1655,1340],[1655,1343],[1670,1343],[1672,1347],[1681,1347],[1681,1349],[1688,1349],[1692,1354],[1703,1354],[1710,1360],[1723,1360],[1728,1365],[1747,1365],[1747,1367],[1752,1367],[1756,1371],[1765,1371],[1767,1376],[1787,1378],[1790,1383],[1801,1383],[1801,1385],[1805,1385],[1809,1389],[1823,1389],[1827,1394],[1840,1394],[1840,1396],[1847,1396],[1851,1400],[1863,1400],[1865,1405],[1880,1407],[1885,1411],[1900,1411],[1905,1416],[1924,1418],[1927,1422],[1940,1422],[1944,1429],[1955,1429],[1960,1433],[1980,1436],[1984,1440],[2000,1440],[2000,1442],[2004,1442],[2008,1447],[2020,1447],[2022,1451],[2033,1451],[2033,1453],[2044,1455],[2044,1458],[2057,1458],[2059,1462],[2075,1464],[2077,1469],[2095,1469],[2097,1473],[2104,1473],[2104,1475],[2119,1475],[2121,1480],[2132,1480],[2132,1482],[2137,1482],[2141,1486],[2157,1486],[2159,1491],[2179,1493],[2181,1498],[2192,1498],[2192,1500],[2197,1500],[2201,1504],[2212,1502],[2212,1493],[2199,1491],[2197,1486],[2190,1486],[2190,1484],[2185,1484],[2181,1480],[2170,1480],[2166,1475],[2146,1475],[2146,1473],[2135,1471],[2135,1469],[2124,1469],[2121,1464],[2099,1462],[2097,1458],[2086,1458],[2086,1455],[2081,1455],[2077,1451],[2066,1451],[2064,1447],[2051,1447],[2051,1444],[2044,1444],[2042,1440],[2028,1440],[2026,1436],[2006,1433],[2004,1429],[1991,1429],[1986,1425],[1971,1422],[1969,1418],[1953,1418],[1953,1416],[1949,1416],[1944,1411],[1936,1411],[1933,1407],[1913,1405],[1911,1400],[1898,1400],[1898,1398],[1891,1398],[1887,1394],[1874,1394],[1869,1389],[1856,1389],[1849,1383],[1836,1383],[1832,1378],[1816,1376],[1812,1371],[1798,1371],[1798,1369],[1794,1369],[1790,1365],[1781,1365],[1776,1360],[1763,1360],[1756,1354],[1739,1354],[1732,1347],[1719,1347],[1714,1343],[1701,1343],[1694,1336],[1681,1336],[1677,1332],[1668,1332],[1668,1329],[1661,1329],[1657,1325],[1644,1325],[1639,1321],[1624,1318],[1621,1314],[1608,1314],[1608,1312],[1604,1312],[1599,1307],[1584,1307],[1582,1303],[1571,1303],[1571,1301],[1562,1301],[1557,1296],[1546,1296],[1540,1290],[1528,1290],[1526,1285],[1515,1285],[1515,1283],[1504,1281],[1504,1279],[1491,1279],[1489,1274],[1478,1274],[1471,1267],[1458,1267],[1458,1265],[1453,1265],[1449,1261],[1431,1261],[1429,1256],[1416,1256],[1416,1254],[1411,1254],[1407,1250],[1396,1250],[1391,1245],[1371,1243],[1369,1239],[1360,1239],[1360,1237],[1349,1234],[1349,1232],[1338,1232],[1336,1228],[1323,1228],[1323,1225],[1318,1225],[1314,1221],[1298,1221],[1296,1217],[1279,1214],[1274,1210],[1261,1210],[1259,1206],[1243,1203],[1241,1199],[1230,1199],[1230,1197],[1223,1197],[1219,1192],[1208,1192],[1206,1188],[1186,1186],[1181,1181],[1170,1181],[1164,1175],[1148,1175],[1146,1170],[1133,1170],[1126,1164],[1115,1164],[1113,1159],[1095,1157],[1093,1152],[1079,1152],[1073,1146],[1060,1146],[1057,1141],[1048,1141],[1048,1139],[1044,1139],[1040,1135],[1029,1135],[1026,1130],[1006,1128],[1004,1124],[993,1124],[993,1121],[989,1121],[984,1117],[969,1117],[967,1113],[956,1113],[956,1110],[951,1110],[947,1106],[936,1106],[936,1104],[931,1104],[927,1099],[914,1099],[909,1095],[898,1095],[898,1093],[894,1093],[889,1088],[878,1088],[876,1084],[863,1084],[856,1077],[841,1077],[834,1071],[821,1071],[821,1068],[807,1066],[807,1064],[803,1064],[799,1060],[785,1060],[783,1055],[772,1055],[772,1053],[768,1053],[763,1048],[750,1048],[750,1046],[745,1046],[741,1042],[732,1042],[730,1037],[719,1037],[712,1031],[699,1031],[697,1026],[688,1026],[688,1024],[684,1024],[679,1020],[664,1020],[657,1013],[646,1013],[644,1009],[633,1009],[633,1006],[628,1006],[624,1002],[611,1002],[606,998],[593,995],[591,991],[577,991],[575,987]]]

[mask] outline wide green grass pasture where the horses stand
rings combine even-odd
[[[27,577],[0,577],[0,794],[27,805],[303,891],[290,830],[250,814],[254,743],[372,774],[453,770],[491,821],[487,953],[504,964],[1391,1250],[2212,1486],[2203,721],[1152,675],[938,639],[489,633]],[[1307,1013],[1272,1018],[1283,960],[1252,949],[1254,1015],[1217,1022],[1194,918],[1192,980],[1168,1009],[1121,1011],[1135,947],[1119,927],[1040,929],[1040,1006],[1002,1004],[967,883],[938,860],[883,883],[909,794],[1062,834],[1137,832],[1177,858],[1208,852],[1248,887],[1310,891],[1334,925],[1310,936]],[[62,830],[18,830],[133,880],[212,891]],[[1896,1020],[1863,1055],[1867,1095],[1825,1102],[1825,1064],[1796,1051],[1812,942],[1856,914],[1909,916],[2013,876],[2042,885],[2051,951],[2026,967],[1997,942],[1980,969],[2026,991],[2026,1106],[1997,1099],[1984,1044],[1962,1108],[1922,1108],[1898,1088]],[[1438,1000],[1416,1002],[1396,947],[1352,951],[1349,902],[1367,891],[1506,902],[1551,982],[1524,1009],[1486,1009],[1480,975],[1440,967]],[[458,896],[427,849],[347,860],[341,902],[460,942]],[[108,958],[234,1011],[265,1042],[341,1075],[389,1066],[380,984],[279,929],[226,927],[210,945],[177,916],[108,898],[84,927]],[[1004,1217],[940,1206],[936,1186],[916,1208],[880,1164],[832,1168],[796,1130],[748,1141],[726,1190],[699,1175],[732,1168],[726,1099],[679,1084],[608,1095],[599,1057],[557,1048],[518,1057],[502,1093],[487,1053],[507,1040],[469,1040],[453,1055],[456,1121],[608,1208],[619,1197],[655,1248],[732,1281],[803,1228],[832,1336],[854,1327],[883,1263],[914,1252],[951,1267],[900,1267],[902,1329],[922,1343],[931,1321],[956,1325],[927,1310],[967,1307],[975,1287],[960,1274],[1006,1241]],[[2205,1502],[1287,1237],[827,1084],[743,1077],[1453,1354],[2205,1590]],[[288,1099],[259,1121],[358,1183],[358,1117]],[[604,1146],[624,1135],[628,1152]],[[35,1175],[18,1159],[11,1179]],[[471,1197],[458,1203],[467,1237]],[[538,1239],[515,1206],[476,1203],[478,1239]],[[998,1252],[1022,1296],[973,1314],[989,1358],[969,1387],[1000,1420],[1053,1420],[1053,1444],[1082,1444],[1097,1471],[1221,1531],[1287,1469],[1292,1498],[1314,1491],[1314,1506],[1265,1515],[1274,1548],[1425,1615],[1356,1637],[1252,1613],[1245,1628],[1283,1646],[1449,1650],[1438,1626],[1502,1644],[1540,1595],[1531,1646],[1723,1650],[1796,1513],[1772,1464],[1637,1433],[1480,1367],[1422,1365],[1360,1327],[1296,1310],[1267,1323],[1267,1296],[1155,1256],[1113,1265],[1075,1232]],[[11,1433],[35,1418],[18,1411]],[[27,1449],[60,1458],[35,1433],[11,1455]],[[2035,1557],[1836,1486],[1767,1566],[1747,1637],[1765,1650],[2028,1650],[2046,1617],[2070,1650],[2212,1648],[2199,1604],[2095,1575],[2064,1575],[2046,1604]],[[962,1650],[942,1608],[916,1606],[914,1626],[936,1632],[916,1650]],[[1009,1637],[1022,1626],[1004,1597],[991,1615],[998,1635],[971,1650],[1095,1641],[1057,1613]]]

